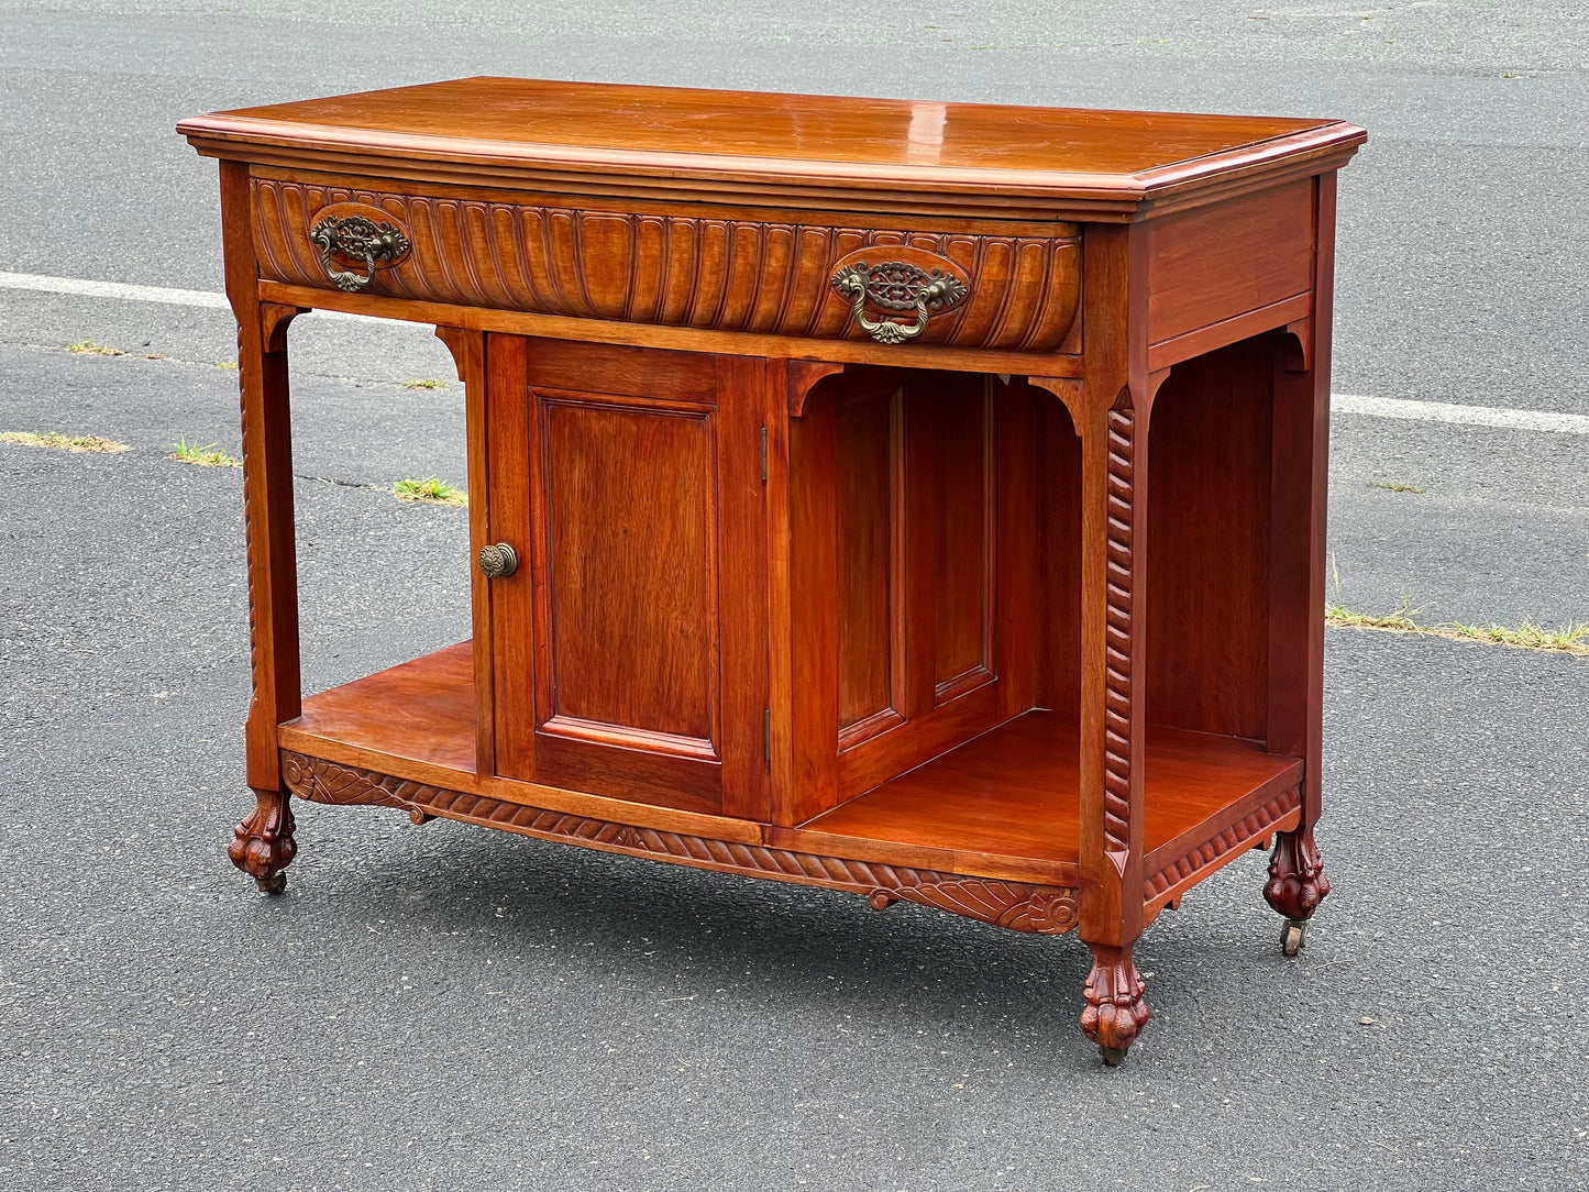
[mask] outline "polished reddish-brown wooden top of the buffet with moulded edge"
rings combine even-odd
[[[1340,153],[1341,121],[842,99],[520,78],[466,78],[183,121],[227,143],[472,164],[628,168],[829,186],[934,184],[1025,194],[1174,189]]]

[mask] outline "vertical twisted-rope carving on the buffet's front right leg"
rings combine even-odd
[[[1131,847],[1133,410],[1109,410],[1108,443],[1103,850],[1123,874]]]

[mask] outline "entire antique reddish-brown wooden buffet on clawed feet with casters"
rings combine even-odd
[[[238,321],[253,814],[289,795],[1077,928],[1319,817],[1335,121],[474,78],[184,121]],[[474,639],[302,696],[286,329],[431,323]]]

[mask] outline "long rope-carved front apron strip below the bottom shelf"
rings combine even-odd
[[[281,777],[299,798],[342,806],[380,804],[402,807],[415,822],[431,815],[505,828],[526,836],[567,841],[609,852],[726,869],[755,877],[772,877],[802,885],[822,885],[866,895],[882,909],[895,901],[918,903],[939,911],[977,919],[995,927],[1036,935],[1061,935],[1076,927],[1076,892],[1058,885],[1026,885],[995,877],[966,877],[872,865],[839,857],[737,844],[707,836],[683,836],[629,823],[572,815],[561,811],[526,807],[520,803],[483,795],[466,795],[373,771],[342,766],[281,750]]]

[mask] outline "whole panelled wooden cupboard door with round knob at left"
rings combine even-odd
[[[493,335],[497,772],[764,819],[761,361]]]

